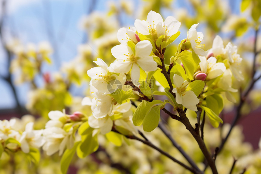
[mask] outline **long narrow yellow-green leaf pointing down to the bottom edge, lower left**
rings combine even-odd
[[[73,159],[73,155],[76,152],[77,146],[80,144],[80,142],[76,142],[73,145],[73,148],[66,149],[66,151],[63,153],[62,159],[60,161],[60,167],[63,174],[67,173],[67,170],[69,168],[69,165]]]

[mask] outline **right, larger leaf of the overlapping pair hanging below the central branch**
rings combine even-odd
[[[146,132],[151,132],[155,128],[157,128],[160,119],[160,108],[161,105],[154,106],[151,110],[146,114],[143,121],[143,130]]]

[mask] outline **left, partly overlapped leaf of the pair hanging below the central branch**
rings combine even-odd
[[[148,107],[149,106],[146,104],[145,100],[141,101],[141,104],[137,107],[132,117],[132,121],[135,126],[142,125],[144,117],[147,114],[147,109],[149,109]]]

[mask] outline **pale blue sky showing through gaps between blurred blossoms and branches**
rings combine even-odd
[[[1,2],[1,0],[0,0]],[[48,2],[47,4],[44,2]],[[79,20],[86,15],[89,10],[91,1],[84,0],[8,0],[8,16],[6,18],[6,26],[11,33],[19,38],[22,43],[39,43],[41,41],[50,40],[48,29],[52,30],[53,37],[56,40],[56,54],[62,62],[73,59],[77,54],[77,46],[83,43],[80,36],[84,38],[84,31],[79,29]],[[176,1],[179,7],[187,6],[185,1]],[[239,7],[240,0],[229,1],[230,6]],[[136,7],[139,6],[140,0],[135,0]],[[48,7],[48,8],[46,8]],[[46,11],[48,9],[48,12]],[[95,10],[100,12],[106,11],[107,1],[97,0]],[[47,13],[46,13],[47,12]],[[233,13],[239,13],[239,8],[233,8]],[[49,19],[46,22],[46,14]],[[163,16],[173,15],[166,10]],[[123,16],[124,24],[131,26],[134,18]],[[80,36],[79,36],[79,35]],[[10,38],[10,37],[9,37]],[[1,47],[1,46],[0,46]],[[55,56],[57,56],[55,54]],[[0,48],[0,74],[7,72],[5,55]],[[56,71],[55,66],[45,65],[43,71]],[[40,83],[40,82],[39,82]],[[19,94],[19,100],[25,104],[27,100],[28,84],[16,86]],[[15,101],[8,84],[0,79],[0,108],[13,107]]]

